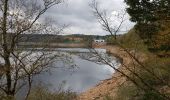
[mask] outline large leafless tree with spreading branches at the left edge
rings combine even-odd
[[[61,57],[60,54],[45,51],[37,53],[34,49],[25,51],[18,44],[23,34],[56,32],[56,27],[42,23],[39,19],[49,8],[63,2],[64,0],[0,0],[0,92],[4,96],[13,98],[28,84],[27,99],[33,77],[48,68],[54,59]],[[56,33],[62,30],[63,28]]]

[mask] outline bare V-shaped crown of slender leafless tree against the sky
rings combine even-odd
[[[112,21],[112,16],[108,15],[107,10],[99,10],[99,3],[96,2],[96,0],[93,0],[93,2],[90,4],[90,7],[93,9],[93,14],[98,19],[98,22],[101,24],[103,30],[109,32],[116,40],[117,33],[120,32],[123,23],[127,20],[126,11],[112,15],[117,18],[116,21],[119,22],[118,25],[113,26],[113,22],[116,21]]]

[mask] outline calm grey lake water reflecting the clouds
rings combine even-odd
[[[90,57],[92,53],[88,53],[88,49],[64,50],[65,53],[70,51],[79,53],[67,53],[72,58],[71,63],[63,61],[54,62],[51,66],[55,68],[51,68],[49,72],[44,72],[36,76],[34,78],[34,85],[41,84],[48,86],[51,91],[56,91],[62,84],[63,90],[69,89],[73,92],[81,93],[96,86],[102,80],[112,77],[114,73],[113,68],[101,62],[95,62],[94,59],[96,58]],[[97,51],[100,54],[106,54],[105,49],[97,49]],[[110,58],[110,62],[116,66],[118,64],[116,59],[113,57]],[[89,59],[93,59],[93,61]]]

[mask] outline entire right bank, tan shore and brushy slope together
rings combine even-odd
[[[169,33],[168,27],[159,31],[158,34],[166,33]],[[154,48],[156,52],[153,52],[153,49],[151,51],[150,46],[136,34],[134,29],[118,38],[118,41],[121,46],[134,55],[137,61],[119,46],[109,45],[102,48],[106,48],[113,56],[122,58],[123,63],[119,69],[135,80],[137,84],[147,89],[141,90],[129,79],[116,72],[111,79],[104,80],[96,87],[82,93],[79,100],[167,100],[161,95],[170,96],[170,57],[167,56],[169,49],[166,49],[166,52],[164,49],[157,50],[156,48]],[[162,39],[162,41],[165,40]],[[157,44],[164,45],[162,41],[159,40]],[[165,47],[170,46],[169,41],[164,43],[166,43]],[[160,52],[163,52],[164,56],[160,57]],[[161,95],[152,89],[150,90],[146,84],[159,91]]]

